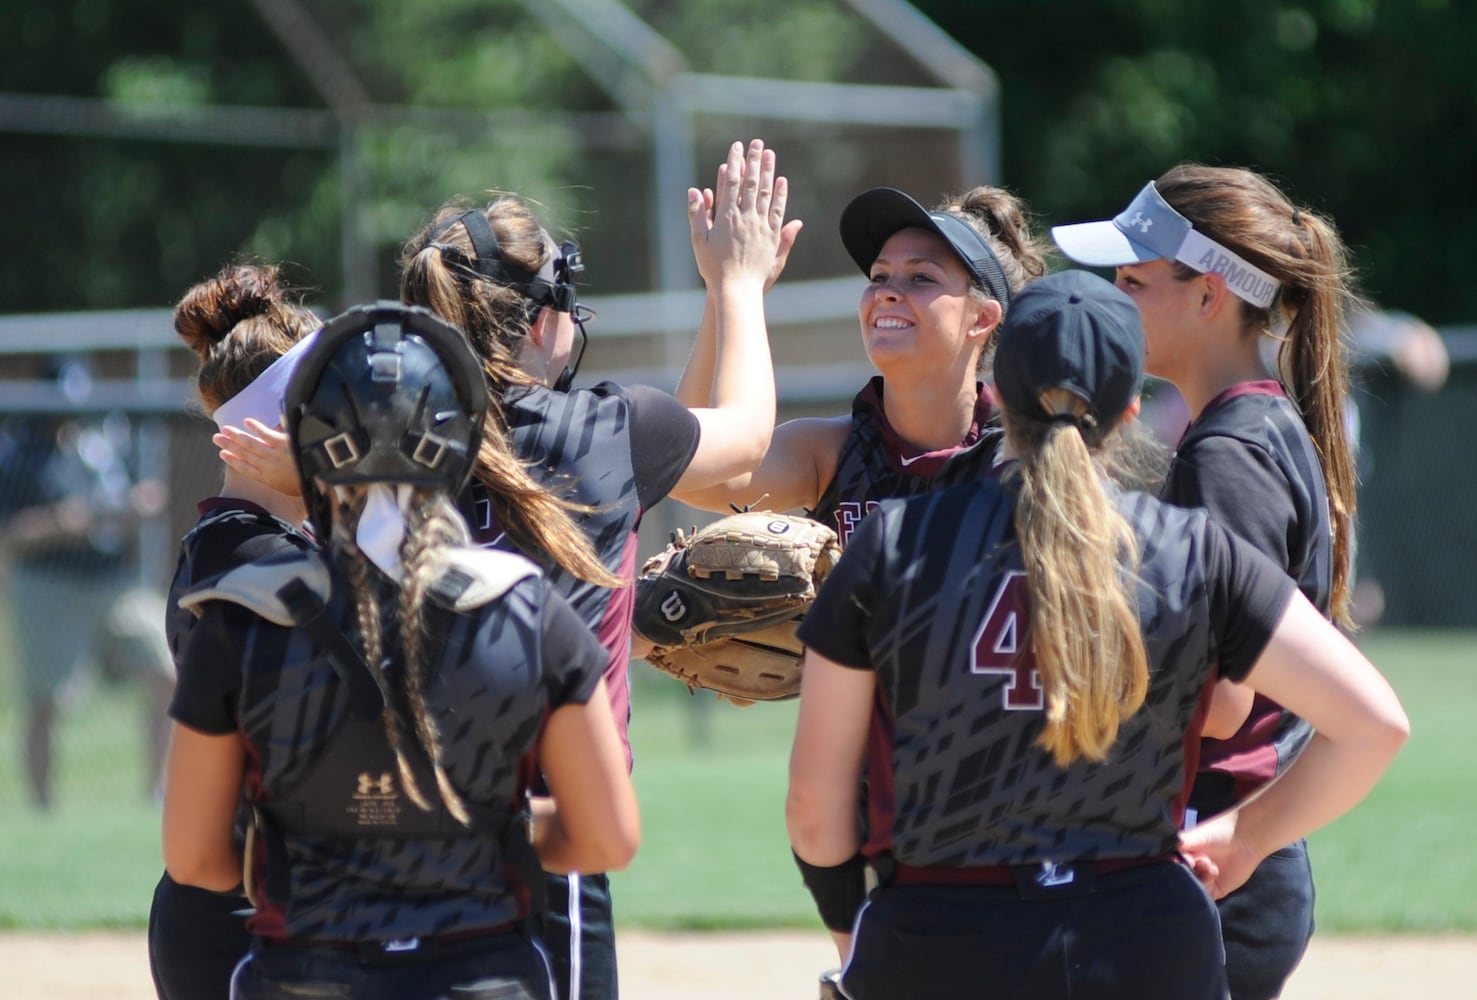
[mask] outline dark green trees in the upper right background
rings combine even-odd
[[[1105,217],[1192,160],[1334,216],[1369,294],[1471,322],[1477,7],[1455,0],[920,0],[1000,74],[1004,180]]]

